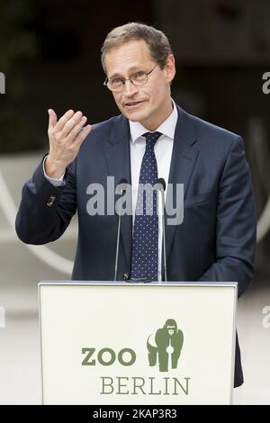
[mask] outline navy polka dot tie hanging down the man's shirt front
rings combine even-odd
[[[139,173],[132,241],[131,279],[157,281],[157,190],[152,190],[151,187],[157,184],[157,159],[154,147],[160,135],[160,132],[146,132],[143,135],[146,138],[146,148]]]

